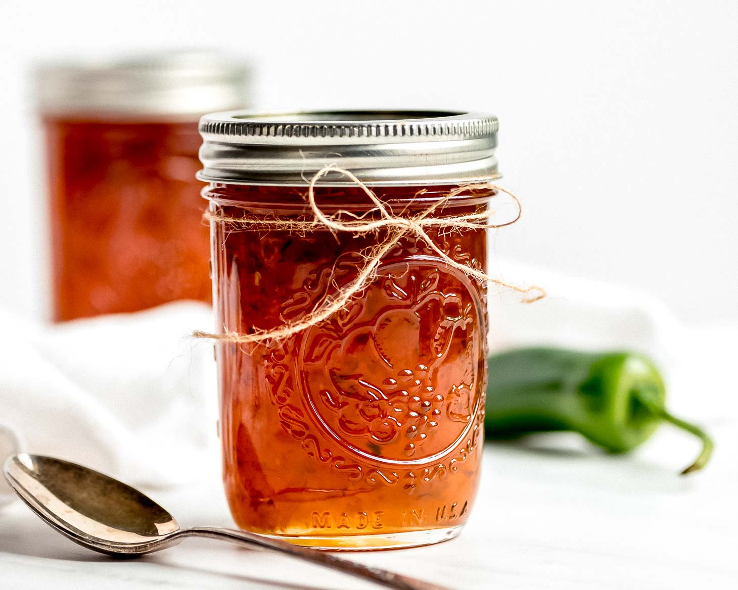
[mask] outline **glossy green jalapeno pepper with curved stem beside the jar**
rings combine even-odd
[[[487,364],[489,439],[576,431],[606,451],[626,453],[669,422],[702,441],[699,456],[682,473],[708,462],[712,440],[666,411],[663,379],[643,355],[525,348],[492,355]]]

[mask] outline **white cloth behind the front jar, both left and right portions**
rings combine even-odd
[[[495,265],[506,280],[545,286],[548,297],[525,305],[492,289],[492,351],[640,350],[661,365],[677,413],[710,420],[734,408],[736,327],[687,329],[641,291]],[[156,486],[196,479],[218,461],[213,345],[187,336],[210,331],[209,306],[177,302],[54,326],[0,311],[0,325],[0,460],[22,445]],[[0,504],[12,497],[4,485]]]

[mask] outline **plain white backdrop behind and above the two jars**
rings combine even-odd
[[[494,112],[525,207],[498,253],[738,319],[735,1],[3,0],[0,305],[46,293],[30,61],[193,46],[252,60],[266,109]]]

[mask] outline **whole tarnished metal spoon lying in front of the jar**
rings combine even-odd
[[[164,508],[129,485],[61,459],[8,457],[5,478],[31,509],[75,543],[108,555],[143,555],[207,537],[286,553],[397,590],[448,590],[442,586],[348,561],[328,552],[251,532],[210,527],[182,529]]]

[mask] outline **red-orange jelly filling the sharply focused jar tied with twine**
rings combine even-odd
[[[413,215],[450,188],[376,193],[395,215]],[[214,215],[300,218],[310,215],[304,192],[211,184],[205,195]],[[433,215],[480,212],[491,194],[454,198]],[[319,187],[317,201],[325,212],[370,208],[355,187]],[[365,249],[386,237],[227,221],[211,231],[218,327],[238,333],[300,319],[351,282]],[[452,259],[484,268],[483,229],[429,234]],[[482,455],[485,293],[407,236],[330,319],[282,341],[216,344],[224,482],[238,526],[323,547],[454,535],[472,509]]]

